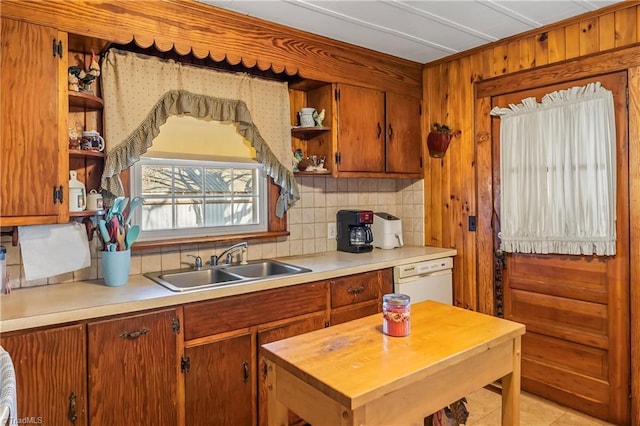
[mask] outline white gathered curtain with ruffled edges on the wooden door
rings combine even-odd
[[[505,252],[614,255],[613,94],[590,83],[527,98],[500,116],[500,245]]]

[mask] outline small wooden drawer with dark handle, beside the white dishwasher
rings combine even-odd
[[[380,297],[380,271],[337,278],[331,283],[331,307],[351,305]]]

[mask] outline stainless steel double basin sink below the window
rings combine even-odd
[[[187,291],[244,284],[304,272],[311,272],[311,269],[268,259],[255,260],[244,265],[217,265],[201,269],[180,269],[144,275],[171,291]]]

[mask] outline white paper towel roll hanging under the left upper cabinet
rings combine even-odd
[[[26,280],[53,277],[91,266],[83,224],[20,226],[20,251]]]

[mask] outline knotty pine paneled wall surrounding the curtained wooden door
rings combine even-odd
[[[514,90],[526,82],[517,73],[563,62],[579,68],[582,58],[615,61],[620,49],[640,51],[640,2],[626,1],[462,54],[426,64],[423,70],[425,131],[433,122],[462,130],[443,159],[425,164],[425,243],[458,250],[454,265],[454,298],[459,306],[493,313],[493,262],[478,261],[493,251],[491,182],[478,170],[494,167],[478,147],[491,143],[491,130],[475,123],[476,82],[513,74]],[[638,49],[638,50],[636,50]],[[608,58],[611,59],[608,59]],[[585,61],[587,62],[587,61]],[[629,187],[631,216],[632,425],[640,425],[640,64],[628,68]],[[550,67],[553,68],[553,67]],[[581,70],[584,72],[584,70]],[[597,70],[594,74],[597,75]],[[486,98],[485,98],[486,101]],[[486,103],[486,102],[485,102]],[[486,150],[482,150],[486,152]],[[487,173],[480,173],[486,176]],[[491,173],[488,174],[491,176]],[[489,188],[487,190],[487,188]],[[486,202],[489,201],[489,202]],[[486,207],[489,206],[489,207]],[[484,208],[486,211],[480,211]],[[469,216],[478,217],[476,232]],[[484,281],[483,281],[484,280]]]

